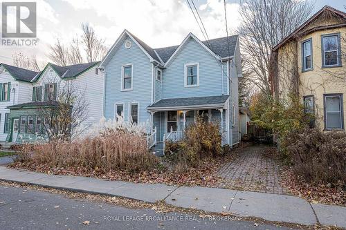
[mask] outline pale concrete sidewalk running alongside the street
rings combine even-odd
[[[242,217],[312,225],[320,222],[346,228],[346,208],[325,204],[309,204],[290,195],[255,193],[200,186],[167,186],[134,184],[78,176],[48,175],[0,166],[0,180],[26,182],[56,189],[97,193],[156,202],[165,200],[176,207],[221,213],[229,211]]]

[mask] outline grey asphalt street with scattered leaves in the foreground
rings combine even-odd
[[[0,213],[0,229],[287,229],[234,219],[203,220],[185,213],[129,209],[12,186],[0,186]]]

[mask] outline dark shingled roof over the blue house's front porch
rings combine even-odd
[[[170,111],[202,108],[224,108],[229,95],[161,99],[147,107],[148,111]]]

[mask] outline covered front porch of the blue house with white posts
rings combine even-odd
[[[206,104],[207,103],[207,104]],[[148,147],[152,148],[165,140],[180,140],[185,128],[202,116],[206,122],[220,125],[222,145],[230,144],[228,95],[162,99],[147,108],[151,113]],[[164,144],[161,144],[164,149]]]

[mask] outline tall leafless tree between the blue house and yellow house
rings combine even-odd
[[[248,81],[270,94],[268,69],[271,50],[295,28],[306,21],[313,10],[312,1],[240,0],[241,37],[244,68],[250,70]]]

